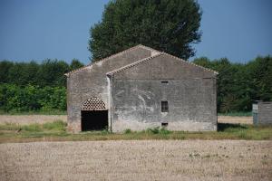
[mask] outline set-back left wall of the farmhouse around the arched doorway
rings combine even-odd
[[[79,71],[68,74],[67,114],[68,129],[81,131],[81,108],[85,100],[98,97],[109,106],[109,82],[106,72],[118,69],[131,62],[151,56],[151,50],[137,46],[129,51],[118,53],[101,62],[93,63]]]

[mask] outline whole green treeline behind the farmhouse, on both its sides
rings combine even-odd
[[[228,59],[193,62],[219,71],[218,111],[250,111],[254,100],[272,100],[272,57],[257,57],[248,63]],[[64,73],[80,68],[57,60],[36,62],[0,62],[0,110],[66,110]]]

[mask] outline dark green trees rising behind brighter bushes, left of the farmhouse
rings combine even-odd
[[[83,63],[73,59],[71,64],[64,61],[47,59],[37,62],[0,62],[0,83],[20,86],[28,84],[40,87],[66,86],[64,73],[83,66]]]

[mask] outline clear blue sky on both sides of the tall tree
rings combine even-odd
[[[89,30],[101,21],[107,2],[0,0],[0,60],[89,62]],[[199,5],[202,41],[194,45],[195,57],[248,62],[272,55],[271,0],[199,0]]]

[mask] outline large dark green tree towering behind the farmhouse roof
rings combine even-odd
[[[199,43],[201,12],[194,0],[114,0],[90,30],[93,61],[139,43],[188,59]]]

